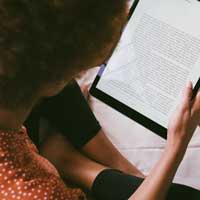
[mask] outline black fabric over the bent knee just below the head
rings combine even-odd
[[[57,96],[44,99],[28,117],[25,125],[36,143],[40,117],[47,119],[77,148],[82,148],[101,129],[76,81],[68,84]]]

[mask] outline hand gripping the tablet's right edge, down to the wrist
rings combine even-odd
[[[200,122],[200,92],[192,100],[192,83],[189,82],[183,92],[182,103],[172,116],[168,127],[167,147],[179,147],[186,150],[193,133]]]

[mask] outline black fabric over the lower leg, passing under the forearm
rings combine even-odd
[[[95,200],[128,200],[143,182],[142,178],[118,170],[106,169],[95,179],[92,195]],[[166,200],[199,200],[200,191],[179,184],[171,184]]]

